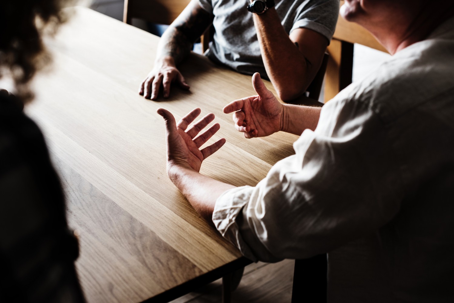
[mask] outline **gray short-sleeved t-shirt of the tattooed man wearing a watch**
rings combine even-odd
[[[314,30],[331,40],[339,14],[339,0],[275,0],[276,11],[287,34],[293,29]],[[268,78],[263,65],[249,0],[199,0],[214,15],[213,43],[208,58],[239,73],[259,72]],[[266,13],[265,13],[266,14]]]

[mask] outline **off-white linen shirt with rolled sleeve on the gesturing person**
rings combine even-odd
[[[454,19],[345,88],[293,146],[217,199],[224,237],[274,262],[375,234],[394,298],[454,302]]]

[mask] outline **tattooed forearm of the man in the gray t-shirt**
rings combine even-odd
[[[213,15],[203,10],[197,0],[192,0],[163,34],[158,58],[170,56],[180,63],[192,49],[192,44],[212,24]]]

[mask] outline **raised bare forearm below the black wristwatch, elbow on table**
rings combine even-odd
[[[304,55],[285,32],[274,8],[253,18],[266,73],[279,97],[287,101],[300,96],[309,84],[305,83]]]

